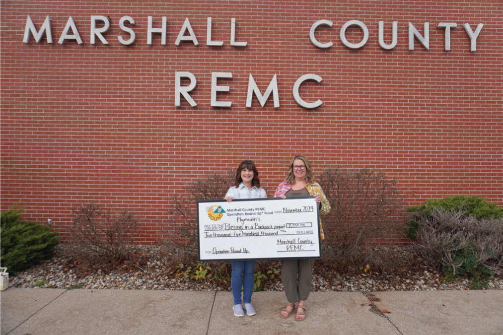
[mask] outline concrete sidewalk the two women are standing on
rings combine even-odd
[[[503,334],[503,290],[312,292],[305,321],[280,318],[283,292],[255,292],[235,317],[231,292],[9,288],[4,334]]]

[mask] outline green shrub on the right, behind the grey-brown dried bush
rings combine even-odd
[[[462,211],[465,215],[473,216],[476,219],[499,219],[503,217],[503,208],[498,207],[496,203],[489,203],[485,198],[458,195],[444,197],[443,199],[430,199],[421,206],[407,208],[407,211],[411,213],[411,217],[407,222],[405,234],[410,239],[414,239],[418,229],[417,218],[422,215],[431,216],[431,213],[437,209]]]

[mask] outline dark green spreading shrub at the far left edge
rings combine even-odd
[[[51,232],[48,226],[21,220],[24,208],[18,208],[18,205],[19,202],[1,214],[0,262],[13,275],[50,259],[61,238],[56,236],[56,232]]]

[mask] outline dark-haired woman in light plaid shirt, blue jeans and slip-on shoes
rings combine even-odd
[[[255,199],[267,198],[266,190],[260,187],[259,172],[251,160],[243,160],[236,170],[234,186],[225,194],[225,200],[231,202],[232,199]],[[234,306],[232,307],[235,316],[244,316],[241,305],[241,287],[243,288],[244,309],[247,315],[255,315],[256,311],[251,305],[251,294],[255,281],[255,260],[235,260],[230,261],[232,266],[232,277],[230,286],[234,296]]]

